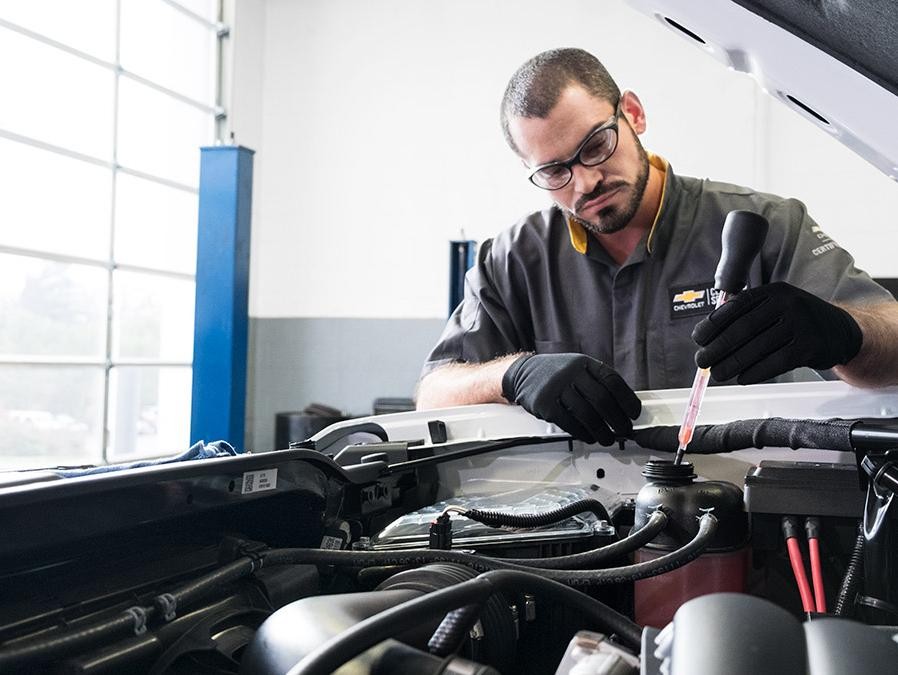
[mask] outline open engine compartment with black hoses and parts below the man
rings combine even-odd
[[[847,663],[884,673],[898,663],[893,419],[842,425],[854,463],[802,461],[799,450],[735,485],[694,477],[690,464],[671,475],[670,455],[646,459],[632,441],[596,452],[500,412],[470,434],[451,413],[400,414],[337,425],[304,448],[8,479],[0,671]],[[493,424],[515,435],[481,433]],[[612,457],[640,472],[639,490],[613,489],[626,481]],[[796,555],[825,607],[806,606]]]

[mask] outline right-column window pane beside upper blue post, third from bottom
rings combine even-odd
[[[199,198],[125,173],[115,197],[116,262],[193,274]]]

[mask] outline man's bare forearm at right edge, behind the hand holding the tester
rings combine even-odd
[[[861,351],[836,375],[859,387],[898,384],[898,303],[871,307],[845,307],[864,335]]]

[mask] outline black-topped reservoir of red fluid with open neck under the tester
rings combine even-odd
[[[749,560],[748,515],[742,490],[725,481],[696,481],[692,464],[650,461],[642,471],[646,484],[636,496],[634,530],[652,511],[663,507],[667,527],[636,552],[637,562],[674,551],[698,532],[698,519],[706,512],[718,520],[708,548],[692,562],[635,584],[637,623],[661,628],[687,600],[721,591],[745,592]]]

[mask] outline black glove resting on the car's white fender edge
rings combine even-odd
[[[529,354],[502,377],[502,395],[587,443],[633,431],[642,402],[610,366],[585,354]],[[609,428],[610,427],[610,428]]]

